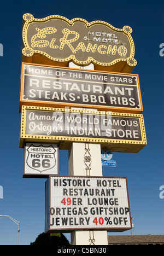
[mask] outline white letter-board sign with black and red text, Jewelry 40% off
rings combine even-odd
[[[54,177],[45,183],[45,232],[131,229],[126,178]]]

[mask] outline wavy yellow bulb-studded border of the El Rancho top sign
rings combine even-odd
[[[128,66],[130,66],[131,68],[133,68],[134,66],[137,65],[137,61],[134,59],[134,42],[133,39],[131,37],[131,33],[132,33],[132,28],[130,26],[124,26],[122,29],[121,28],[116,28],[112,25],[110,25],[108,22],[105,21],[92,21],[92,22],[87,22],[85,19],[81,19],[81,18],[74,18],[72,20],[68,20],[67,18],[60,16],[60,15],[50,15],[47,16],[46,18],[43,19],[36,19],[34,18],[34,16],[32,14],[26,13],[23,15],[23,19],[25,21],[23,30],[22,30],[22,39],[23,39],[23,43],[24,43],[24,48],[22,49],[22,54],[25,57],[32,57],[34,53],[36,54],[42,54],[45,57],[48,57],[48,59],[50,59],[51,61],[55,61],[55,62],[69,62],[69,61],[74,61],[75,63],[77,63],[77,65],[88,65],[89,63],[93,62],[95,65],[98,66],[103,66],[103,67],[108,67],[108,66],[112,66],[115,65],[118,62],[126,62]],[[73,25],[74,22],[80,21],[83,22],[85,24],[86,27],[91,27],[93,25],[96,24],[101,24],[101,25],[105,25],[108,28],[112,29],[113,31],[116,32],[122,32],[124,34],[126,34],[129,42],[130,42],[130,46],[131,46],[131,53],[130,56],[127,57],[127,59],[115,59],[112,62],[108,62],[108,63],[104,63],[104,62],[99,62],[96,61],[95,59],[93,59],[93,57],[88,57],[88,59],[86,61],[78,61],[75,57],[75,55],[70,55],[69,57],[67,57],[66,59],[56,59],[54,57],[51,57],[49,54],[46,54],[44,51],[38,51],[38,50],[34,50],[32,49],[29,45],[28,45],[28,41],[27,41],[27,30],[28,27],[30,26],[30,24],[32,22],[46,22],[49,21],[51,19],[60,19],[60,20],[64,20],[66,21],[69,25]]]

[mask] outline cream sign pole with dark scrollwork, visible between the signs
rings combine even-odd
[[[83,68],[69,63],[69,67]],[[94,69],[93,65],[87,66]],[[69,175],[70,176],[102,176],[100,144],[75,143],[69,148]],[[108,245],[107,231],[105,230],[75,230],[71,232],[72,245]]]

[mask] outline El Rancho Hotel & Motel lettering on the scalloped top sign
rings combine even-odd
[[[63,33],[63,37],[60,38],[60,45],[55,45],[55,33],[57,32],[57,29],[55,27],[45,27],[43,29],[40,29],[38,27],[36,27],[36,31],[38,31],[38,33],[34,34],[34,36],[31,39],[31,46],[32,48],[34,47],[46,47],[49,46],[51,49],[60,49],[63,50],[63,48],[65,46],[67,46],[67,48],[69,47],[69,49],[72,51],[73,54],[77,53],[77,51],[81,50],[81,51],[86,51],[87,53],[89,53],[90,51],[92,51],[92,53],[95,53],[96,51],[99,54],[112,54],[115,55],[116,52],[118,52],[118,54],[120,56],[125,56],[127,54],[127,48],[126,46],[122,45],[123,43],[120,42],[120,40],[118,40],[118,37],[115,36],[115,34],[112,33],[106,33],[106,32],[88,32],[89,35],[92,35],[93,38],[91,39],[92,42],[95,42],[95,44],[91,44],[91,43],[87,43],[87,45],[84,42],[79,42],[79,33],[76,31],[71,31],[68,28],[64,28],[62,30]],[[43,40],[43,38],[46,38],[47,34],[53,34],[52,35],[52,39],[49,40]],[[73,37],[71,38],[70,35],[72,35]],[[97,37],[98,36],[98,37]],[[71,38],[71,39],[68,39]],[[85,41],[90,41],[88,36],[84,36],[84,40]],[[77,41],[78,45],[74,46],[73,42]],[[98,45],[96,44],[96,42],[102,42],[105,44],[113,43],[112,44],[101,44]],[[121,46],[118,46],[116,44],[121,44]]]

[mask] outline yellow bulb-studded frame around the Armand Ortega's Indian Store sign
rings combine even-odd
[[[46,143],[60,143],[60,149],[68,149],[72,142],[83,142],[83,143],[99,143],[102,147],[108,146],[113,148],[113,152],[128,152],[137,153],[140,149],[147,145],[147,138],[145,134],[144,119],[142,114],[125,114],[112,112],[112,116],[117,117],[128,117],[138,118],[140,124],[140,132],[142,141],[131,141],[125,139],[104,139],[104,138],[90,138],[90,137],[71,137],[71,136],[48,136],[48,135],[28,135],[26,134],[26,110],[38,110],[48,112],[76,112],[76,113],[87,113],[87,114],[104,114],[108,115],[108,112],[98,112],[91,110],[80,110],[80,109],[63,109],[63,108],[48,108],[48,107],[35,107],[35,106],[22,106],[21,112],[21,131],[20,131],[20,148],[24,148],[25,142],[46,142]],[[115,148],[115,149],[114,149]]]

